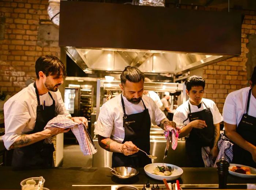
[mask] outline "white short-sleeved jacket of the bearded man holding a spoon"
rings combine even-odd
[[[142,101],[139,104],[129,102],[124,96],[125,112],[127,115],[140,113],[145,110]],[[154,100],[143,95],[143,102],[148,109],[151,122],[154,125],[159,125],[160,122],[166,118],[165,114],[157,107]],[[94,133],[103,137],[110,137],[116,142],[123,142],[124,128],[123,128],[124,111],[121,103],[121,94],[108,100],[104,103],[99,112],[97,124]]]

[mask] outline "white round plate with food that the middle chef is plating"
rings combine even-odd
[[[173,173],[171,175],[157,175],[157,174],[153,174],[154,173],[154,169],[157,166],[170,166],[170,167],[174,167]],[[148,164],[147,166],[144,167],[144,171],[146,172],[146,174],[148,176],[150,176],[151,178],[157,179],[157,180],[163,180],[164,178],[169,181],[169,180],[174,180],[174,179],[178,179],[182,174],[183,174],[183,170],[178,167],[175,166],[173,164],[163,164],[163,163],[153,163],[153,164]]]

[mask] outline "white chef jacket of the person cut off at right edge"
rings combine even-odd
[[[233,125],[238,125],[242,115],[246,113],[247,98],[250,87],[242,88],[240,90],[231,92],[223,107],[223,121]],[[256,99],[251,94],[248,115],[256,117]]]

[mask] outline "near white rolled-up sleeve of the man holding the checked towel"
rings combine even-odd
[[[22,131],[27,126],[30,118],[29,110],[24,104],[18,101],[6,102],[4,104],[5,134],[3,141],[7,150],[22,135]]]

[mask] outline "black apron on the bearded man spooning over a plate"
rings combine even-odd
[[[124,99],[121,95],[121,102],[124,110],[123,127],[124,127],[124,141],[132,141],[138,148],[149,154],[150,151],[150,127],[151,119],[143,100],[145,110],[137,113],[127,115],[125,113]],[[112,167],[144,167],[151,164],[151,159],[145,153],[139,151],[133,155],[125,156],[123,153],[113,152]]]

